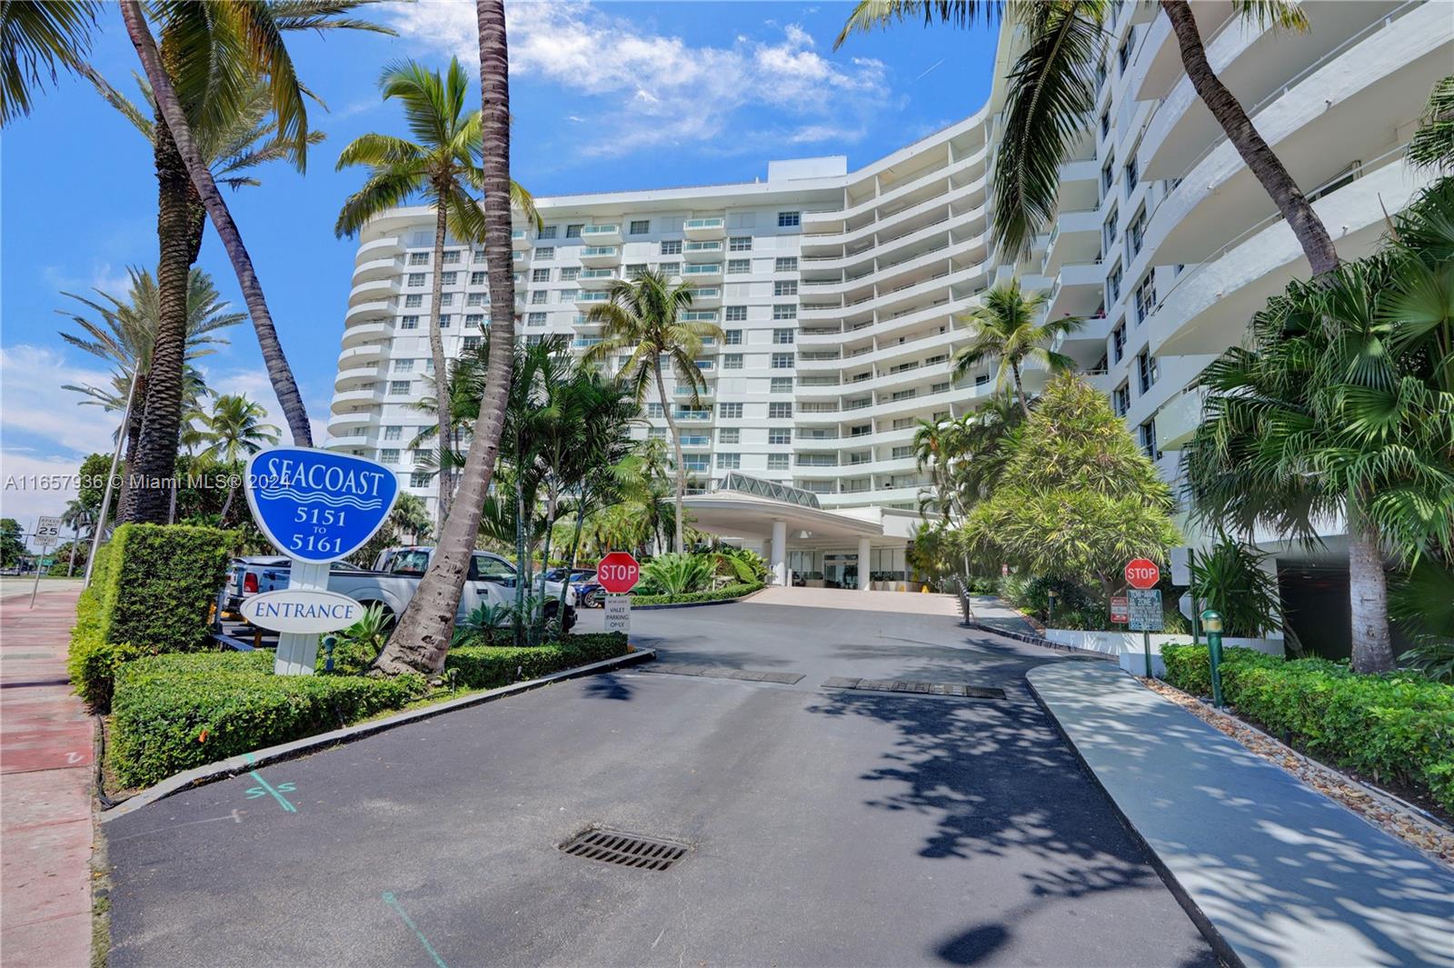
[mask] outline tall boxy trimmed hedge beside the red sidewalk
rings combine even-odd
[[[217,599],[237,535],[215,528],[122,525],[97,552],[76,606],[67,669],[97,712],[111,708],[112,679],[141,656],[209,648]]]

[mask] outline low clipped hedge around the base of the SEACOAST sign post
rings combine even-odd
[[[273,676],[270,651],[153,656],[116,673],[111,762],[128,786],[336,730],[422,695],[420,676]]]

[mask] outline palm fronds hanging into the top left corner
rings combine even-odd
[[[77,71],[90,54],[100,0],[6,0],[0,4],[0,126],[31,113],[33,89]]]

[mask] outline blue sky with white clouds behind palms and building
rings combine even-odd
[[[848,3],[515,3],[510,16],[512,174],[538,195],[750,182],[769,158],[846,154],[858,167],[980,108],[995,36],[904,25],[832,42]],[[108,10],[93,62],[131,93],[135,54]],[[333,170],[368,131],[403,134],[377,78],[397,58],[477,70],[474,4],[381,4],[400,36],[297,35],[289,47],[329,106],[308,172],[263,169],[228,196],[302,387],[316,435],[332,395],[355,243],[333,237],[359,172]],[[475,100],[477,103],[477,100]],[[63,384],[99,382],[99,360],[58,337],[61,291],[122,295],[126,266],[156,262],[151,153],[84,81],[63,78],[0,140],[0,478],[71,474],[106,449],[119,414],[76,406]],[[241,308],[208,228],[199,259]],[[73,304],[74,305],[74,304]],[[249,324],[202,360],[209,382],[275,406]],[[282,423],[275,420],[275,423]],[[29,526],[65,494],[6,488],[0,513]]]

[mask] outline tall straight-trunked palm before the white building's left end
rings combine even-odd
[[[343,202],[337,222],[333,225],[339,237],[356,235],[359,230],[379,212],[403,203],[414,195],[423,195],[435,209],[435,253],[433,253],[433,297],[429,327],[429,350],[435,360],[435,398],[446,397],[448,372],[445,369],[443,334],[439,331],[439,302],[443,288],[445,237],[478,241],[483,237],[483,215],[480,205],[470,195],[484,182],[480,169],[480,112],[464,110],[470,78],[451,58],[445,77],[416,61],[390,64],[379,77],[384,100],[397,97],[404,108],[404,118],[414,141],[384,134],[366,134],[355,138],[339,156],[337,169],[355,164],[369,169],[369,177],[358,192]],[[510,199],[516,208],[539,221],[535,202],[529,192],[510,182]],[[449,414],[439,416],[439,507],[438,522],[449,515],[449,500],[454,494],[454,475],[445,449],[449,443]]]

